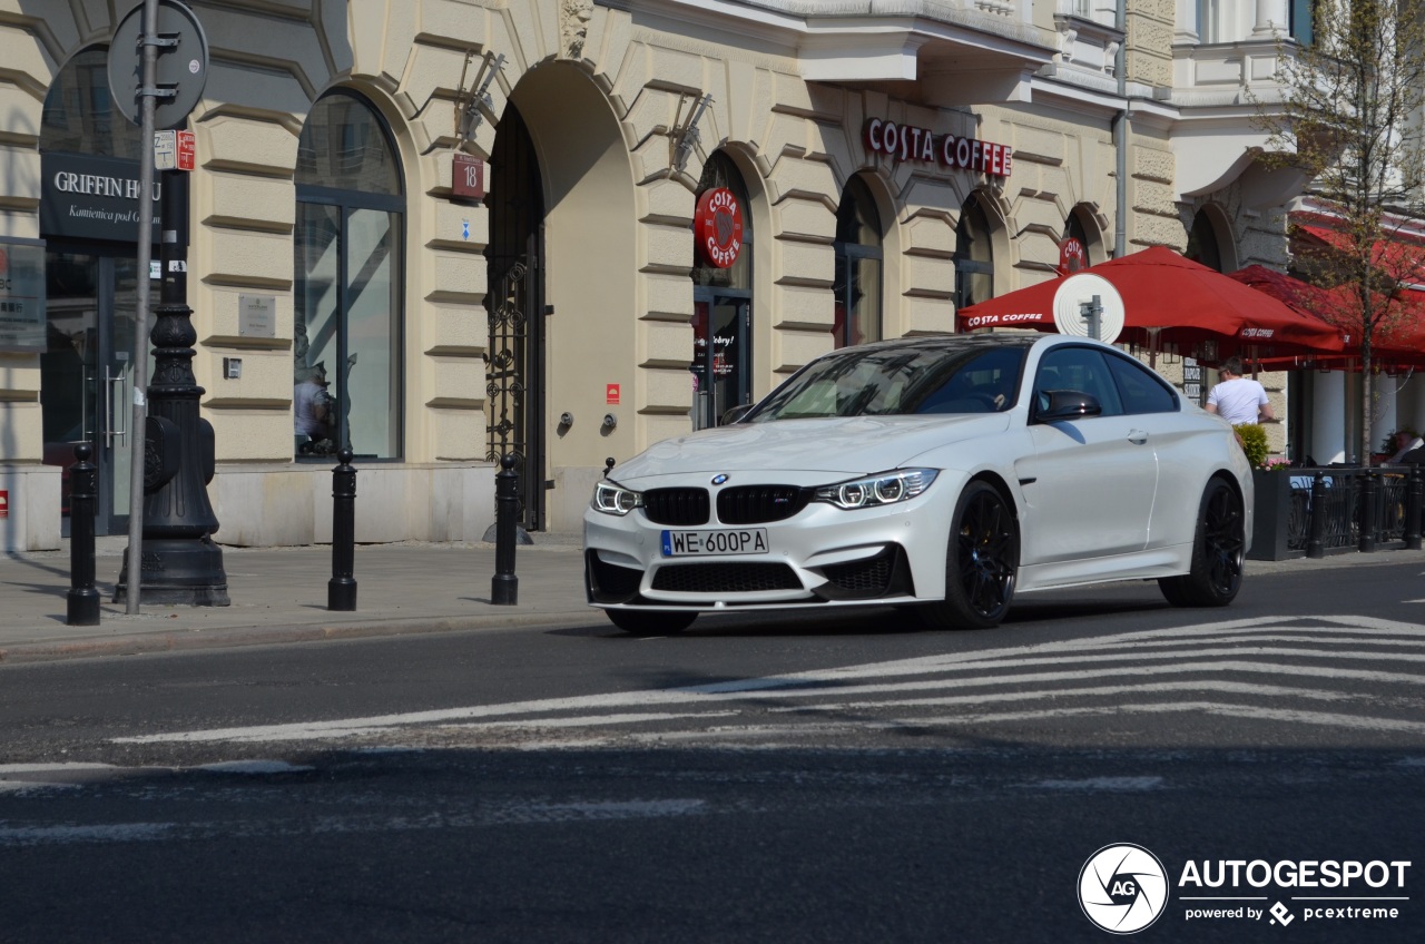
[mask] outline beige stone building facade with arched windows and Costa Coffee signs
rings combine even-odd
[[[128,6],[0,0],[0,248],[47,289],[43,342],[0,351],[9,549],[58,545],[78,441],[127,526],[138,145],[101,73]],[[1210,207],[1243,258],[1285,252],[1235,154],[1180,185],[1210,138],[1180,6],[194,0],[217,539],[328,540],[341,445],[361,542],[479,540],[506,453],[524,528],[573,530],[607,459],[839,344],[953,331],[1066,237],[1184,248]]]

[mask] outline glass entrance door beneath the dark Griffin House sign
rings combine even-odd
[[[40,355],[44,463],[64,469],[60,515],[66,536],[70,466],[81,442],[90,443],[91,461],[98,465],[95,533],[128,530],[135,270],[133,258],[66,250],[46,254],[48,347]]]

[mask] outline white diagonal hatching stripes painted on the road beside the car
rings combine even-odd
[[[1314,623],[1317,626],[1307,626]],[[1257,645],[1257,643],[1273,645]],[[503,704],[479,704],[402,714],[372,717],[335,719],[326,722],[299,722],[289,724],[265,724],[251,727],[227,727],[197,732],[170,732],[114,739],[117,743],[161,743],[161,742],[285,742],[285,740],[328,740],[376,734],[393,727],[420,724],[457,724],[469,727],[587,727],[633,724],[678,717],[714,717],[735,712],[637,712],[628,709],[656,709],[671,706],[714,706],[727,702],[768,702],[821,699],[819,710],[846,709],[845,702],[826,702],[836,697],[859,697],[868,694],[895,694],[916,690],[950,689],[995,689],[1003,686],[1045,686],[1063,682],[1082,682],[1113,676],[1196,674],[1196,673],[1241,673],[1270,674],[1274,677],[1300,677],[1312,680],[1362,682],[1369,684],[1425,684],[1425,673],[1379,672],[1371,669],[1345,667],[1351,662],[1391,662],[1414,666],[1425,663],[1425,652],[1404,652],[1421,649],[1425,642],[1425,626],[1401,623],[1375,617],[1255,617],[1203,623],[1180,629],[1157,629],[1124,632],[1090,639],[1057,640],[1027,646],[988,649],[973,653],[923,656],[881,663],[864,663],[838,669],[821,669],[787,673],[771,677],[734,679],[680,689],[648,689],[614,692],[591,696],[561,699],[536,699]],[[1294,643],[1294,645],[1282,645]],[[1362,647],[1369,647],[1364,650]],[[1097,650],[1097,652],[1096,652]],[[1223,656],[1224,659],[1217,659]],[[1278,662],[1287,659],[1292,662]],[[1328,666],[1301,665],[1304,662],[1328,660]],[[1059,672],[1015,672],[1037,666],[1064,663],[1082,666]],[[1112,663],[1124,663],[1114,666]],[[1159,665],[1144,665],[1159,663]],[[973,673],[972,677],[950,677]],[[998,674],[995,674],[998,673]],[[881,682],[905,676],[939,676],[921,682]],[[839,683],[839,684],[838,684]],[[1302,697],[1330,700],[1359,700],[1372,697],[1324,692],[1318,687],[1300,689],[1285,686],[1254,686],[1245,683],[1160,683],[1154,686],[1104,687],[1084,692],[1099,694],[1121,694],[1136,692],[1170,690],[1220,690],[1233,694],[1261,697]],[[1070,692],[1072,693],[1072,692]],[[1057,690],[1019,692],[1005,694],[946,696],[922,702],[852,702],[856,707],[891,707],[906,704],[970,704],[993,700],[1033,700],[1066,694]],[[597,714],[624,709],[617,714]],[[798,709],[792,709],[798,710]],[[802,707],[799,710],[811,710]],[[554,716],[523,717],[516,716]],[[564,716],[564,717],[557,717]],[[978,716],[982,720],[986,716]],[[1378,719],[1384,724],[1392,719]],[[1414,730],[1414,729],[1409,729]]]

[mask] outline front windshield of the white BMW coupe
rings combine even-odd
[[[845,348],[778,386],[744,422],[999,412],[1015,404],[1023,362],[1015,345]]]

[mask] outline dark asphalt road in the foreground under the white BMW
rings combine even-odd
[[[1405,562],[0,666],[0,941],[1416,941],[1422,607]],[[1161,887],[1082,904],[1124,843]],[[1394,871],[1183,881],[1238,860]]]

